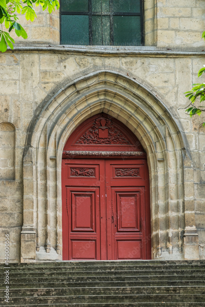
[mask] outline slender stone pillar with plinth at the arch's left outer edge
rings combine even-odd
[[[21,232],[21,262],[35,261],[36,232],[34,230],[34,178],[32,148],[23,160],[23,226]]]

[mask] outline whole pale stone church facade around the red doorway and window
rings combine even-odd
[[[205,258],[205,117],[183,92],[203,82],[204,1],[145,0],[144,46],[59,45],[59,12],[37,8],[27,43],[0,55],[0,259],[62,260],[62,154],[102,112],[147,155],[151,258]],[[23,16],[19,16],[23,24]]]

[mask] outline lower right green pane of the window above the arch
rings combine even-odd
[[[139,16],[113,16],[115,46],[141,45]]]

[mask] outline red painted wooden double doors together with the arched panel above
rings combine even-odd
[[[70,136],[64,150],[81,150],[76,140],[84,138],[86,131],[90,135],[94,124],[97,142],[101,137],[105,142],[110,130],[115,132],[114,139],[116,134],[124,135],[132,142],[124,146],[108,140],[110,144],[93,145],[94,138],[81,144],[83,150],[143,150],[123,124],[106,119],[100,114],[87,120]],[[151,259],[146,158],[64,158],[61,173],[63,260]]]

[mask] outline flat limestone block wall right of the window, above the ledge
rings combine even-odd
[[[157,1],[157,46],[203,46],[204,20],[204,1]]]

